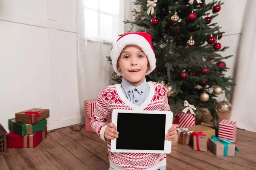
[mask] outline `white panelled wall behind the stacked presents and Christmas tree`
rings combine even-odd
[[[212,21],[226,31],[219,42],[230,48],[221,54],[234,55],[225,61],[226,76],[235,70],[244,7],[245,1],[225,0]],[[16,112],[34,107],[50,109],[48,130],[81,122],[76,0],[0,0],[0,49],[0,123],[6,130]]]

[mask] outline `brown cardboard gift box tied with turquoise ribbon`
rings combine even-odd
[[[221,139],[227,140],[226,138]],[[209,138],[208,148],[212,150],[216,156],[224,156],[224,144],[220,141],[213,141],[211,138]],[[235,156],[235,149],[236,144],[228,144],[227,156]]]

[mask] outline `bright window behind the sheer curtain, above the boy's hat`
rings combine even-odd
[[[111,42],[113,20],[119,0],[84,0],[85,33],[88,40]]]

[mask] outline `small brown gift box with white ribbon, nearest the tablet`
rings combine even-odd
[[[187,145],[192,143],[192,131],[187,128],[179,127],[177,128],[178,142],[182,145]]]

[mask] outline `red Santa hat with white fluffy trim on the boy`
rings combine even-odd
[[[113,48],[111,49],[111,60],[113,69],[117,74],[122,76],[122,72],[118,71],[116,68],[117,60],[126,45],[137,45],[148,57],[148,62],[150,68],[146,72],[146,75],[150,74],[156,68],[156,57],[154,54],[154,49],[151,44],[151,35],[145,32],[130,32],[122,35],[114,43]]]

